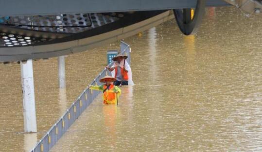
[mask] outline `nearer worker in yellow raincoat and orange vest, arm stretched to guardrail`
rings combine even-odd
[[[118,98],[121,94],[121,90],[117,86],[111,84],[112,82],[116,81],[116,78],[112,76],[105,76],[99,81],[105,84],[100,86],[87,86],[87,88],[102,91],[103,102],[105,105],[118,104]]]

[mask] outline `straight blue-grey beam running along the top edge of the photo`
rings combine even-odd
[[[197,0],[0,0],[0,15],[56,15],[194,8]],[[228,5],[207,0],[207,6]],[[4,7],[3,7],[4,6]],[[48,8],[48,9],[47,9]]]

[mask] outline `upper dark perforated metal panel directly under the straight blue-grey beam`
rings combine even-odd
[[[34,16],[2,16],[0,25],[28,30],[77,33],[114,22],[124,13],[60,14]]]

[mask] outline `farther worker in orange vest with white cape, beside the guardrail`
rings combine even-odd
[[[119,54],[112,58],[112,60],[114,61],[112,67],[105,67],[109,71],[115,70],[115,86],[128,85],[128,71],[130,71],[131,69],[127,61],[125,61],[125,59],[127,58],[128,57],[126,55]]]

